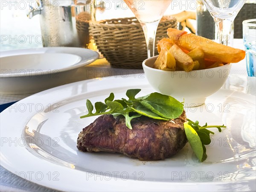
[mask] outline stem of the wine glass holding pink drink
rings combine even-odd
[[[156,32],[157,26],[160,20],[152,22],[152,23],[144,23],[140,22],[143,32],[146,39],[148,58],[154,56],[154,48],[155,48],[155,40],[156,40]]]

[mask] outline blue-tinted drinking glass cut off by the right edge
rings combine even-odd
[[[250,77],[256,76],[256,19],[243,21],[243,40],[246,51],[246,67]]]

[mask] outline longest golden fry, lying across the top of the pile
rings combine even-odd
[[[204,37],[187,34],[184,31],[169,28],[167,34],[171,41],[182,49],[192,51],[200,47],[207,59],[221,61],[223,63],[237,63],[245,57],[244,50],[218,44]]]

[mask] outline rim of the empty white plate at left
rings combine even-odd
[[[99,53],[90,49],[85,49],[81,47],[41,47],[36,49],[15,49],[15,50],[9,50],[9,51],[1,51],[0,52],[0,59],[2,57],[10,57],[10,56],[17,56],[17,55],[32,55],[32,54],[44,54],[44,53],[67,53],[71,55],[77,55],[81,58],[79,62],[76,64],[73,64],[68,67],[64,67],[61,69],[54,69],[50,70],[51,74],[55,73],[61,73],[70,71],[79,67],[86,66],[88,64],[91,64],[93,61],[96,61],[99,58]],[[87,54],[92,54],[90,58],[87,58]],[[49,70],[41,70],[41,73],[48,74]],[[36,71],[31,71],[29,74],[26,72],[20,73],[19,75],[24,75],[24,78],[29,76],[36,76]],[[17,73],[0,73],[1,79],[7,79],[10,77],[17,77]]]

